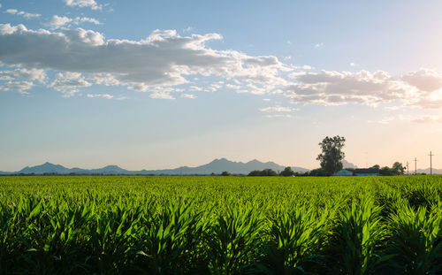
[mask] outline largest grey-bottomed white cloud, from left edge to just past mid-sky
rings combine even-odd
[[[86,73],[88,80],[95,83],[150,92],[155,87],[188,83],[187,78],[197,74],[241,81],[263,91],[287,84],[280,74],[291,69],[277,57],[251,57],[206,46],[206,42],[218,39],[220,34],[180,36],[173,30],[156,30],[141,41],[106,40],[103,34],[82,28],[51,32],[0,24],[0,62]],[[214,83],[204,90],[221,87]],[[152,97],[169,95],[159,93]]]

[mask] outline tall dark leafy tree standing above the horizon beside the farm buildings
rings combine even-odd
[[[316,160],[321,162],[321,167],[327,175],[338,172],[342,169],[342,159],[346,154],[342,151],[346,139],[342,136],[326,136],[322,142],[319,143],[323,153],[318,155]]]

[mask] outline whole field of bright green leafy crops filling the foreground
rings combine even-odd
[[[0,177],[1,274],[442,274],[442,177]]]

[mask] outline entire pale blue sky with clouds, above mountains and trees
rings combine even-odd
[[[440,1],[0,0],[0,171],[442,168]]]

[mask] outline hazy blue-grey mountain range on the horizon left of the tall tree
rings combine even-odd
[[[141,171],[128,171],[120,168],[117,165],[108,165],[99,169],[81,169],[81,168],[66,168],[59,164],[45,163],[42,165],[36,165],[32,167],[25,167],[19,172],[0,172],[0,174],[44,174],[44,173],[56,173],[56,174],[155,174],[155,175],[189,175],[189,174],[211,174],[221,173],[228,171],[236,174],[248,174],[254,170],[272,169],[274,171],[282,171],[286,166],[275,164],[273,162],[263,163],[256,159],[249,161],[248,163],[232,162],[225,158],[215,159],[209,164],[203,164],[197,167],[182,166],[176,169],[164,169],[164,170],[141,170]],[[294,172],[308,172],[309,169],[301,167],[292,167]]]

